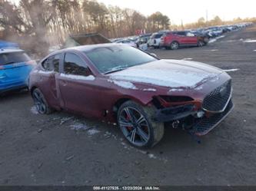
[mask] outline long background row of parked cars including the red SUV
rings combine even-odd
[[[229,31],[237,31],[241,28],[252,25],[252,23],[241,23],[238,25],[212,26],[209,28],[198,28],[187,31],[158,31],[145,35],[113,39],[112,42],[131,44],[143,50],[148,47],[166,48],[175,50],[180,47],[204,46],[211,38],[217,38]]]

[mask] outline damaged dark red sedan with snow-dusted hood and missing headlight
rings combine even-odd
[[[194,61],[161,60],[125,44],[55,51],[29,77],[38,112],[66,110],[118,123],[135,147],[152,147],[165,126],[202,136],[226,117],[231,77]]]

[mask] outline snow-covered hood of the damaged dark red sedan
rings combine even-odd
[[[218,79],[219,68],[195,61],[158,60],[109,74],[111,80],[132,81],[161,87],[194,88]]]

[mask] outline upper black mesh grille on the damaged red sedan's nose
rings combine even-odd
[[[219,111],[223,110],[231,95],[231,80],[225,82],[214,91],[211,91],[203,101],[204,110]]]

